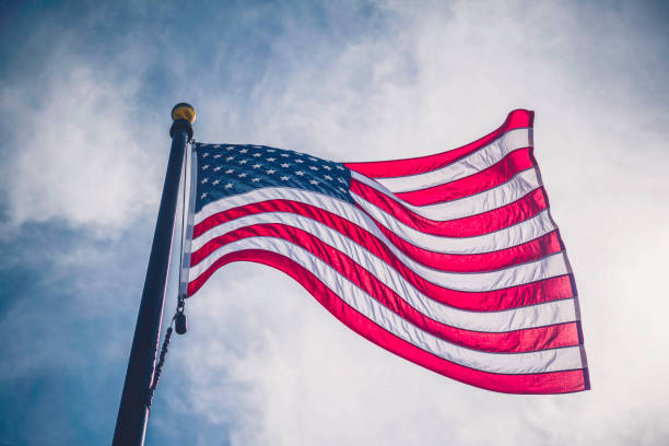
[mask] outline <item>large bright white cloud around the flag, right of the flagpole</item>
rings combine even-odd
[[[592,390],[469,388],[348,331],[290,279],[230,266],[189,304],[201,330],[189,340],[197,351],[183,353],[192,409],[214,424],[233,416],[233,444],[666,442],[666,116],[638,107],[653,97],[610,90],[641,73],[619,66],[648,60],[629,51],[634,11],[605,13],[595,33],[583,27],[588,11],[558,4],[429,4],[391,5],[384,38],[363,36],[322,66],[268,72],[234,138],[338,160],[409,157],[476,139],[512,108],[537,109],[537,156],[576,270]],[[295,50],[286,33],[274,54]],[[621,51],[598,52],[600,39]],[[219,412],[230,406],[234,415]]]

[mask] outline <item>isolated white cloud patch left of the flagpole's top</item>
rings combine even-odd
[[[133,121],[137,81],[75,58],[45,70],[46,81],[8,85],[0,96],[15,122],[4,178],[13,223],[59,220],[99,234],[128,227],[156,202],[164,168],[151,161],[155,139],[142,140],[150,129]]]

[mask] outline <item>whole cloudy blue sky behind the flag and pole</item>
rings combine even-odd
[[[643,1],[7,2],[0,445],[110,443],[181,101],[198,141],[334,161],[536,110],[592,389],[450,380],[239,262],[188,301],[148,445],[669,444],[668,22]]]

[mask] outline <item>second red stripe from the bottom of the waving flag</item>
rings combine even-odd
[[[285,226],[270,227],[270,225],[244,227],[210,243],[216,248],[257,235],[283,238],[305,248],[403,319],[448,342],[489,352],[527,352],[578,344],[576,322],[494,333],[465,330],[438,322],[413,308],[400,295],[345,254],[300,230]],[[216,268],[212,266],[208,270],[212,270],[213,273]]]

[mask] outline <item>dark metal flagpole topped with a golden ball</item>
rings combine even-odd
[[[126,383],[118,408],[113,446],[142,446],[149,421],[149,388],[153,380],[157,354],[169,255],[174,234],[179,180],[186,144],[192,137],[192,106],[179,103],[172,109],[172,149],[163,186],[153,245],[146,269],[144,291],[140,303],[134,338],[126,372]]]

